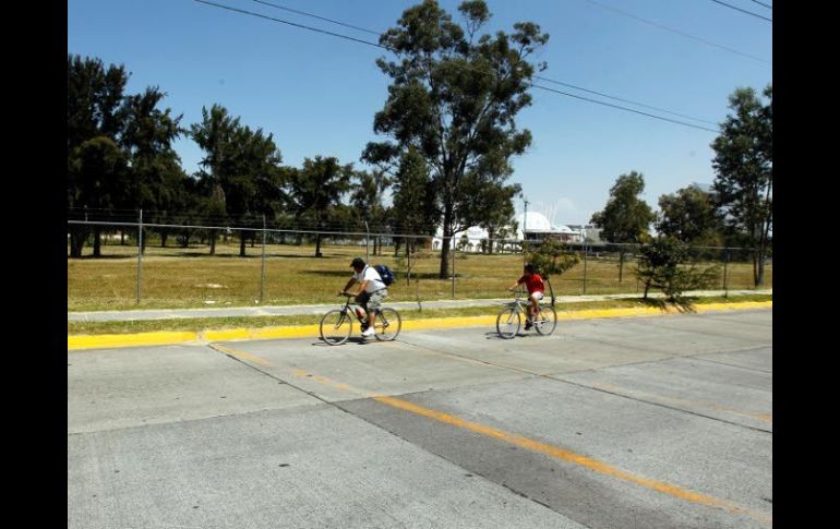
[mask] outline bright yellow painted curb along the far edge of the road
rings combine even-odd
[[[708,303],[695,305],[688,312],[734,311],[745,309],[772,309],[772,301],[745,301],[743,303]],[[672,306],[657,309],[638,306],[627,309],[592,309],[583,311],[559,312],[557,320],[591,320],[602,317],[655,316],[677,314],[680,311]],[[419,330],[430,328],[478,327],[495,325],[496,316],[456,316],[430,317],[428,320],[410,320],[403,322],[403,330]],[[122,347],[142,347],[188,344],[195,341],[236,341],[236,340],[269,340],[284,338],[317,338],[317,325],[300,325],[264,328],[232,328],[223,330],[194,332],[156,332],[139,334],[110,335],[74,335],[68,336],[68,350],[105,349]]]

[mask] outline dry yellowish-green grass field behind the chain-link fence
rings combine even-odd
[[[89,254],[89,249],[85,250],[85,254]],[[147,247],[137,304],[136,248],[105,245],[101,259],[68,259],[68,311],[254,305],[260,300],[261,252],[259,245],[249,247],[248,256],[239,257],[238,242],[217,244],[215,256],[207,255],[206,247]],[[321,259],[315,259],[314,253],[312,245],[269,244],[262,304],[338,304],[336,292],[350,278],[350,261],[357,255],[364,257],[365,249],[363,245],[325,245]],[[386,248],[384,255],[374,256],[371,248],[370,256],[370,262],[387,264],[397,273],[397,280],[388,289],[391,301],[453,298],[453,280],[437,279],[440,256],[436,252],[412,260],[410,285],[393,254],[393,248]],[[505,288],[519,277],[521,266],[521,254],[458,253],[454,298],[508,297]],[[552,286],[557,296],[640,292],[633,267],[634,263],[625,263],[623,281],[619,282],[617,260],[590,255],[586,261],[586,285],[581,260],[563,276],[553,278]],[[772,264],[768,263],[765,274],[763,288],[772,288]],[[753,288],[752,277],[751,263],[729,263],[729,289]],[[719,282],[711,288],[723,289],[722,276]]]

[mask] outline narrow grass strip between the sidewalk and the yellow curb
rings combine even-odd
[[[688,298],[683,303],[674,305],[658,299],[641,300],[640,298],[617,299],[604,301],[587,301],[579,303],[557,303],[559,313],[597,309],[626,309],[638,306],[660,306],[667,304],[682,311],[691,311],[692,306],[707,303],[740,303],[745,301],[772,301],[769,294],[747,294],[724,297]],[[404,310],[400,315],[404,321],[425,320],[432,317],[483,316],[499,314],[497,306],[466,306],[460,309]],[[96,334],[133,334],[156,330],[218,330],[226,328],[261,328],[295,325],[315,325],[321,322],[321,314],[299,314],[289,316],[237,316],[237,317],[196,317],[178,320],[147,320],[133,322],[68,322],[68,335]]]

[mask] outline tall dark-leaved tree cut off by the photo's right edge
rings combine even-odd
[[[753,88],[737,88],[729,115],[711,144],[717,172],[713,189],[725,223],[743,235],[753,253],[753,279],[764,285],[765,259],[772,238],[772,85],[765,105]]]

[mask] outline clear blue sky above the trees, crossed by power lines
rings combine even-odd
[[[277,10],[250,0],[212,0],[334,33],[373,40],[367,33]],[[384,31],[409,0],[266,0],[356,26]],[[727,3],[772,19],[752,0]],[[440,4],[457,19],[458,1]],[[771,0],[761,3],[772,4]],[[710,0],[490,0],[491,31],[536,22],[551,35],[538,56],[541,75],[615,97],[720,122],[735,87],[761,91],[772,82],[772,24]],[[686,38],[636,17],[734,49],[763,61]],[[193,0],[68,0],[68,52],[121,63],[132,73],[128,92],[159,86],[164,105],[182,124],[202,106],[221,104],[242,123],[274,134],[285,164],[336,156],[359,161],[377,140],[373,116],[387,79],[374,61],[382,49],[220,10]],[[575,95],[715,129],[708,123],[541,83]],[[517,120],[533,134],[514,159],[529,211],[556,224],[588,223],[622,175],[645,176],[644,199],[713,178],[712,132],[533,89],[533,105]],[[381,139],[380,139],[381,140]],[[184,169],[197,170],[202,152],[189,139],[176,144]],[[521,209],[517,201],[517,209]]]

